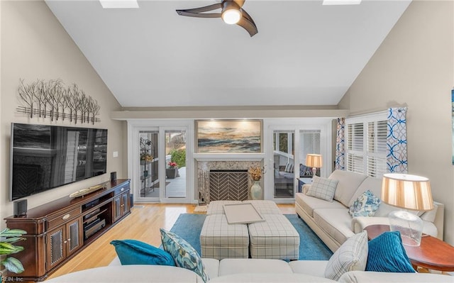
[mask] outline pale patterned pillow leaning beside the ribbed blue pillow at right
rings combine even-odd
[[[328,260],[325,277],[338,281],[352,270],[364,271],[367,264],[367,232],[348,238]]]

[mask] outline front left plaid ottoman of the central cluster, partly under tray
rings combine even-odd
[[[200,248],[201,257],[248,258],[248,225],[228,224],[225,214],[207,215],[200,232]]]

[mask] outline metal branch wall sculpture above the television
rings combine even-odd
[[[61,79],[45,81],[38,79],[30,84],[19,80],[18,94],[23,106],[18,106],[17,111],[39,117],[50,118],[57,121],[61,118],[70,119],[70,122],[93,123],[101,122],[99,115],[101,106],[92,96],[85,94],[77,84],[65,87]]]

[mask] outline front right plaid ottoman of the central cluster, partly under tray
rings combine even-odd
[[[265,221],[248,224],[250,256],[299,259],[299,233],[282,214],[263,214]]]

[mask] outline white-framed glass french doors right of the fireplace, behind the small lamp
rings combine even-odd
[[[292,201],[302,185],[311,182],[312,177],[306,173],[307,154],[321,154],[324,168],[319,172],[331,173],[331,120],[305,119],[294,125],[275,121],[267,130],[267,172],[271,173],[267,176],[270,186],[266,186],[270,189],[265,192],[268,199]]]

